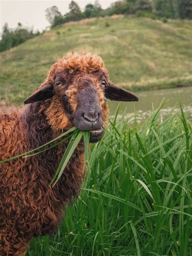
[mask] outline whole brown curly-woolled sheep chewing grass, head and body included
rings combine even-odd
[[[107,122],[106,98],[137,101],[109,82],[98,55],[69,53],[51,66],[45,82],[25,109],[0,112],[0,160],[22,154],[77,126],[99,141]],[[68,141],[31,158],[0,164],[0,256],[24,255],[29,241],[53,234],[68,203],[77,197],[84,175],[80,142],[62,177],[49,183]]]

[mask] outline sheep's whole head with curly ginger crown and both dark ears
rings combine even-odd
[[[51,66],[45,82],[24,103],[50,102],[45,114],[54,130],[74,125],[90,130],[90,142],[99,141],[107,123],[106,98],[138,101],[138,97],[109,81],[98,55],[69,53]]]

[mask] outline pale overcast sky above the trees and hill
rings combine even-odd
[[[9,28],[17,27],[21,22],[23,26],[42,31],[49,22],[45,19],[45,9],[53,5],[58,6],[59,11],[64,14],[68,12],[68,5],[71,0],[0,0],[0,32],[4,23],[8,23]],[[75,0],[84,9],[88,3],[94,0]],[[115,0],[100,0],[103,9],[110,6]]]

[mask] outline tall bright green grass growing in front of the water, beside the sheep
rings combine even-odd
[[[131,128],[117,113],[57,234],[33,239],[27,256],[192,255],[190,117],[162,122],[158,109]]]

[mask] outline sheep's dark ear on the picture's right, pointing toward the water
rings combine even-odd
[[[112,83],[108,83],[105,88],[105,97],[116,101],[138,101],[139,98],[132,92],[126,91]]]

